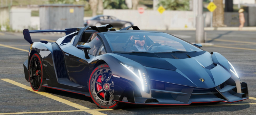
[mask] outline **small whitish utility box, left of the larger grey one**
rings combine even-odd
[[[11,8],[10,10],[10,27],[15,31],[23,31],[30,27],[31,9],[28,8]]]

